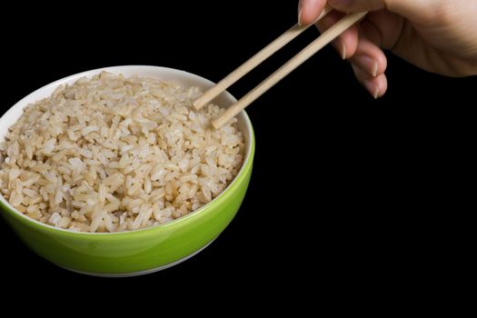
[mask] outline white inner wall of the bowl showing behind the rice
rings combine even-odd
[[[25,108],[26,105],[35,103],[36,101],[40,99],[50,96],[51,94],[53,94],[53,92],[55,92],[56,87],[58,87],[59,85],[73,84],[80,77],[84,77],[84,76],[91,77],[93,75],[100,74],[103,71],[114,73],[114,74],[123,74],[124,76],[139,75],[143,77],[154,77],[154,78],[164,80],[166,82],[180,84],[184,87],[194,85],[199,87],[202,91],[205,91],[206,89],[214,85],[213,82],[205,79],[204,77],[187,73],[181,70],[176,70],[174,68],[167,68],[167,67],[160,67],[160,66],[126,65],[126,66],[104,67],[104,68],[98,68],[91,71],[86,71],[83,73],[62,78],[51,84],[47,84],[44,87],[37,89],[32,94],[28,94],[25,98],[23,98],[14,106],[12,106],[12,108],[10,108],[2,116],[2,118],[0,118],[0,141],[3,141],[5,139],[5,134],[8,132],[8,128],[11,125],[15,124],[18,118],[20,118],[20,116],[23,114],[23,109]],[[220,94],[219,96],[217,96],[214,99],[213,103],[226,108],[234,104],[236,101],[237,100],[234,98],[232,94],[229,94],[228,92],[224,92],[223,94]],[[246,154],[243,160],[243,165],[244,165],[245,161],[249,159],[249,156],[252,150],[252,144],[250,143],[250,141],[252,140],[252,134],[253,134],[252,124],[250,122],[248,115],[245,114],[245,112],[238,114],[237,119],[238,119],[239,128],[243,132],[243,136],[246,142]],[[0,201],[2,201],[5,205],[9,206],[15,212],[17,212],[16,209],[5,200],[3,195],[0,195]],[[17,213],[21,214],[19,212]],[[24,214],[21,214],[21,215],[25,216]],[[30,219],[30,220],[35,221],[33,219]],[[48,224],[43,224],[43,225],[51,226]],[[61,230],[59,228],[56,228],[56,229]]]

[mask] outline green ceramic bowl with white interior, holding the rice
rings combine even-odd
[[[72,75],[40,88],[15,104],[0,118],[0,140],[4,139],[8,127],[15,123],[27,104],[49,96],[60,84],[71,84],[79,77],[102,71],[152,76],[178,84],[196,85],[203,90],[213,85],[197,75],[157,66],[107,67]],[[228,93],[215,100],[225,107],[235,101],[234,96]],[[238,119],[246,139],[246,155],[234,182],[211,203],[170,224],[115,234],[74,233],[26,217],[8,204],[2,195],[0,214],[35,253],[71,271],[99,276],[128,276],[153,273],[173,266],[212,243],[242,204],[252,174],[254,140],[247,114],[242,112]]]

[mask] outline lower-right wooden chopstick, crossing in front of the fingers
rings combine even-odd
[[[234,118],[234,116],[239,114],[246,106],[253,103],[255,99],[269,90],[274,84],[277,84],[283,79],[283,77],[289,75],[296,67],[302,65],[304,61],[320,51],[324,45],[332,42],[333,39],[335,39],[338,35],[341,35],[350,26],[362,19],[366,14],[367,12],[345,15],[335,25],[323,32],[323,34],[314,40],[310,45],[306,46],[300,53],[294,55],[290,61],[275,71],[273,75],[268,76],[261,84],[258,84],[255,88],[253,88],[252,91],[244,95],[241,100],[227,108],[224,114],[221,114],[215,118],[212,122],[214,127],[218,129],[223,124]]]

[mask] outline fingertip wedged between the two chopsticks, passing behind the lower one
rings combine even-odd
[[[333,26],[343,17],[342,13],[331,12],[330,14],[323,17],[316,25],[318,29],[323,33],[328,28]],[[348,30],[344,31],[343,34],[338,36],[333,40],[332,45],[338,51],[338,54],[344,59],[350,58],[354,55],[356,51],[356,46],[358,44],[358,28],[353,25]]]

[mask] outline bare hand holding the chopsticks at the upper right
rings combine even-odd
[[[383,50],[432,73],[477,75],[475,0],[301,0],[299,23],[313,23],[326,3],[336,11],[317,24],[321,31],[343,13],[370,11],[333,46],[351,62],[354,75],[374,98],[387,89]]]

